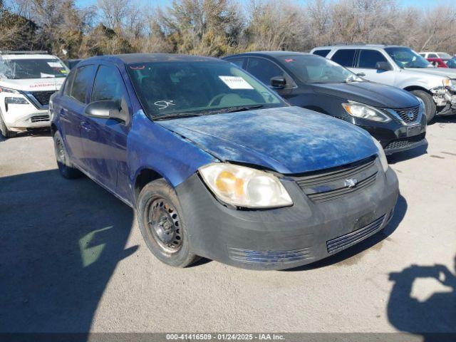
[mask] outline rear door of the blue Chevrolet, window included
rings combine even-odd
[[[93,81],[95,66],[86,65],[72,71],[66,81],[63,96],[55,110],[71,161],[86,170],[87,161],[81,141],[81,118],[86,107],[88,88]]]

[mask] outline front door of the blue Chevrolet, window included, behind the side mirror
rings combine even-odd
[[[117,66],[103,62],[98,66],[90,95],[90,103],[113,100],[124,103],[132,113],[130,98]],[[90,158],[89,169],[92,177],[115,194],[127,199],[127,135],[128,123],[110,118],[83,118],[81,135],[84,154]]]

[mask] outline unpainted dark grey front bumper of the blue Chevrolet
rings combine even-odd
[[[371,187],[316,203],[282,180],[291,207],[236,210],[214,198],[197,174],[176,187],[195,254],[246,269],[289,269],[329,257],[383,229],[398,199],[389,169]]]

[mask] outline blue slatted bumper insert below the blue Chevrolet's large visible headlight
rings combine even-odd
[[[233,261],[250,264],[286,264],[304,259],[312,259],[310,247],[291,249],[289,251],[252,251],[228,247],[229,258]]]

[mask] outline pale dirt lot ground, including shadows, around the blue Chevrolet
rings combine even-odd
[[[63,180],[48,134],[0,140],[0,332],[456,331],[456,118],[395,157],[385,232],[291,271],[161,264],[135,213]]]

